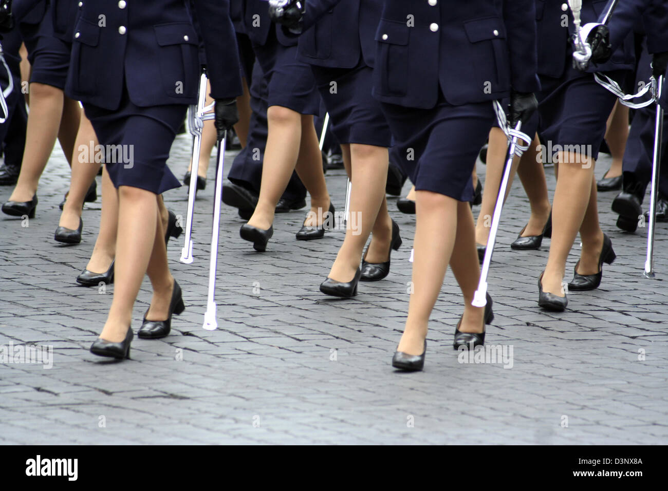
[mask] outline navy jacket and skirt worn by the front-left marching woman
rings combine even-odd
[[[211,96],[235,98],[241,82],[227,0],[99,0],[79,7],[66,94],[83,103],[100,144],[124,150],[121,162],[105,162],[116,187],[159,194],[180,186],[166,160],[188,105],[198,99],[193,5],[206,59],[215,60],[207,67]]]

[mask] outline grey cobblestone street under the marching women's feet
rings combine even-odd
[[[234,154],[228,152],[225,172]],[[189,157],[190,136],[180,135],[169,161],[177,177]],[[609,165],[603,155],[597,178]],[[0,443],[668,444],[668,227],[657,228],[657,279],[646,279],[647,229],[617,229],[610,208],[615,192],[599,194],[599,212],[617,260],[604,266],[599,289],[571,292],[566,312],[548,313],[536,305],[536,280],[549,240],[540,251],[510,249],[528,218],[516,180],[490,267],[495,319],[486,335],[488,345],[501,345],[512,357],[508,363],[458,361],[452,335],[462,305],[448,271],[432,315],[425,371],[398,373],[390,360],[408,306],[415,217],[388,199],[403,238],[391,273],[361,283],[355,299],[341,300],[318,287],[343,230],[298,242],[307,208],[278,214],[267,252],[256,253],[239,237],[243,221],[236,209],[223,205],[218,329],[206,331],[213,168],[212,160],[196,202],[194,263],[178,261],[183,236],[168,246],[186,311],[174,318],[170,336],[135,338],[132,359],[122,363],[88,351],[114,285],[100,292],[75,283],[95,243],[100,198],[86,204],[81,244],[53,240],[69,184],[58,146],[29,226],[0,216],[0,346],[53,347],[52,367],[17,359],[0,364]],[[484,170],[478,162],[483,184]],[[546,174],[551,198],[552,168]],[[343,170],[329,171],[327,184],[343,210]],[[1,187],[0,200],[10,192],[11,186]],[[185,216],[185,187],[164,198]],[[135,331],[149,302],[145,279]]]

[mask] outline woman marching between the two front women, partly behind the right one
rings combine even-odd
[[[307,20],[315,21],[313,27],[303,21],[286,26],[293,32],[304,31],[298,59],[313,70],[352,183],[350,213],[359,217],[360,230],[353,233],[347,228],[336,261],[320,286],[323,293],[335,297],[353,297],[359,281],[385,278],[390,253],[401,245],[399,226],[389,218],[385,200],[391,133],[379,102],[371,98],[373,36],[382,6],[382,0],[343,0],[331,9],[331,2],[308,0]],[[275,8],[270,12],[281,23],[289,13]]]

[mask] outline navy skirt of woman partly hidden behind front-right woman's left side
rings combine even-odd
[[[371,97],[373,68],[362,59],[354,68],[311,65],[315,83],[329,112],[330,130],[339,144],[391,146],[392,135],[380,103]],[[336,82],[336,92],[332,92]]]

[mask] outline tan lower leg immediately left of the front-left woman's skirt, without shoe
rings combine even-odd
[[[74,152],[71,168],[72,176],[69,182],[67,200],[60,215],[59,226],[65,226],[75,230],[79,226],[79,218],[83,209],[83,198],[86,197],[88,188],[98,174],[100,164],[96,164],[94,154],[90,155],[90,148],[98,144],[93,125],[84,114],[81,114],[79,133],[76,140],[76,152]],[[93,157],[93,158],[91,158]]]

